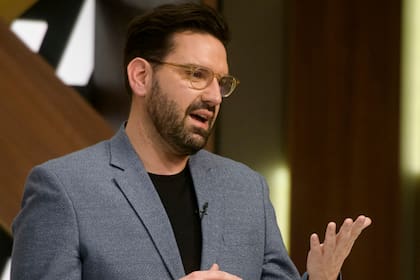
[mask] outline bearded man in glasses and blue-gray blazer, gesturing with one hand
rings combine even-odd
[[[228,73],[228,31],[197,4],[135,19],[125,48],[128,121],[110,140],[35,167],[14,221],[12,279],[300,279],[265,180],[202,150]],[[370,219],[347,219],[307,277],[337,279]]]

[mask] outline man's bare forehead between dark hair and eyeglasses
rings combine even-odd
[[[227,73],[225,46],[208,33],[185,31],[172,37],[173,49],[167,59],[177,63],[193,63],[209,67],[216,72]]]

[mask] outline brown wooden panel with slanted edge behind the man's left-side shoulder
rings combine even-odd
[[[0,42],[0,224],[10,230],[31,167],[113,131],[1,21]]]

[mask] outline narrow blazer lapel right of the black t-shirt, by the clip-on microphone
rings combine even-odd
[[[223,192],[216,169],[200,153],[190,158],[189,166],[200,211],[207,205],[201,218],[201,269],[207,270],[217,263],[219,246],[222,244]]]

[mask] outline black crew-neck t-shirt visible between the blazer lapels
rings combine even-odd
[[[201,220],[189,168],[175,175],[149,176],[171,222],[185,273],[199,270]]]

